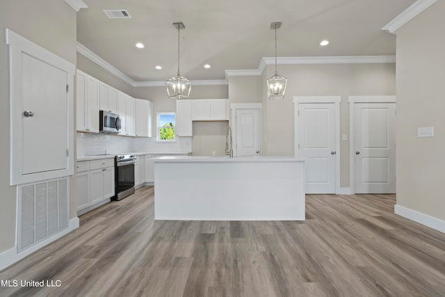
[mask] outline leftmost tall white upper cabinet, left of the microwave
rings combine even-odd
[[[99,132],[99,80],[76,71],[76,129]]]

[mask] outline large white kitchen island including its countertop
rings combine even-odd
[[[305,220],[305,160],[154,159],[155,220]]]

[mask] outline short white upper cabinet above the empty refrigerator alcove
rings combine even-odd
[[[193,120],[229,120],[228,99],[195,99]]]

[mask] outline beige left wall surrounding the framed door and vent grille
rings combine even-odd
[[[5,29],[76,63],[76,13],[65,1],[2,0],[0,2],[0,155],[9,156],[9,71]],[[76,188],[70,179],[71,195]],[[16,187],[9,186],[9,166],[0,167],[0,252],[15,246]],[[74,205],[73,205],[74,204]],[[71,218],[76,216],[71,201]],[[74,212],[73,212],[74,209]],[[73,215],[74,214],[74,215]]]

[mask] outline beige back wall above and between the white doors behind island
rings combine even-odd
[[[261,77],[229,78],[230,103],[262,102],[261,150],[269,156],[295,153],[293,96],[341,96],[340,134],[349,136],[348,96],[396,94],[394,63],[279,65],[278,73],[287,78],[286,96],[268,100],[266,79],[274,72],[275,65],[268,65]],[[349,187],[349,141],[337,141],[341,143],[341,187]]]

